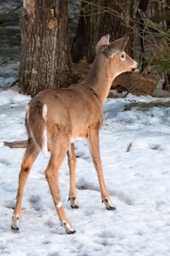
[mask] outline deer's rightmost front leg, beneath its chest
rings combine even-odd
[[[90,129],[88,132],[87,140],[89,143],[89,150],[93,160],[93,164],[98,173],[98,179],[99,179],[99,184],[101,188],[102,203],[104,202],[108,210],[115,210],[116,208],[113,206],[109,198],[109,194],[103,178],[102,162],[101,162],[100,148],[99,148],[99,131],[96,129]]]

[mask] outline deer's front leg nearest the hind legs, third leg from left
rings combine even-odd
[[[70,187],[69,187],[69,197],[71,208],[79,208],[77,200],[77,191],[76,191],[76,155],[75,155],[75,146],[74,143],[69,144],[67,151],[68,156],[68,166],[69,166],[69,176],[70,176]]]

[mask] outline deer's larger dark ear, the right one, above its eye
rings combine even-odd
[[[108,57],[112,58],[116,53],[123,52],[128,40],[129,36],[125,36],[114,42],[111,42],[111,44],[105,48],[105,52],[107,53]]]

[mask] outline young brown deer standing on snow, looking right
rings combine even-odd
[[[51,152],[45,176],[61,225],[67,233],[76,231],[68,221],[61,203],[58,172],[67,153],[70,170],[69,198],[72,208],[79,208],[75,168],[74,143],[87,139],[94,167],[98,173],[102,202],[108,210],[115,210],[103,178],[99,148],[99,131],[103,123],[103,103],[112,81],[120,73],[134,71],[138,64],[125,52],[129,37],[109,44],[109,35],[101,38],[96,46],[96,57],[87,78],[67,89],[49,89],[36,95],[27,106],[26,128],[28,144],[19,174],[16,206],[12,217],[12,229],[19,229],[23,188],[31,166],[38,154]]]

